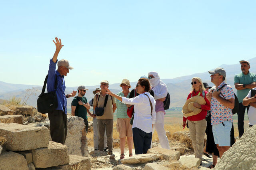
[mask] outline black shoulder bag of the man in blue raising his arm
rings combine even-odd
[[[44,93],[47,79],[48,79],[48,75],[46,75],[45,77],[42,93],[38,96],[38,99],[37,99],[37,111],[40,113],[49,113],[54,111],[58,107],[58,101],[56,96],[57,75],[55,75],[55,84],[54,84],[55,90],[48,93]]]

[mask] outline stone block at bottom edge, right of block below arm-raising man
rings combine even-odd
[[[90,170],[90,158],[77,156],[77,155],[69,155],[69,164],[58,166],[62,170]]]

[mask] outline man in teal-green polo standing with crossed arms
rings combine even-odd
[[[241,64],[241,71],[242,73],[235,75],[234,77],[234,84],[236,88],[236,96],[239,101],[239,110],[237,113],[238,117],[238,132],[239,132],[239,138],[244,133],[244,112],[245,108],[247,108],[247,112],[249,109],[249,106],[243,105],[243,99],[247,96],[248,92],[256,87],[256,74],[251,73],[249,71],[250,69],[250,63],[245,60],[239,61]]]

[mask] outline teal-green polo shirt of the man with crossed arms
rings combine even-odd
[[[239,84],[252,84],[253,82],[256,82],[256,74],[251,73],[249,71],[248,74],[244,75],[244,73],[236,74],[234,77],[234,83]],[[236,96],[238,98],[239,103],[243,102],[243,99],[248,95],[249,91],[251,89],[243,89],[243,90],[237,90]]]

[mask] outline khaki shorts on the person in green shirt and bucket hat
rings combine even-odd
[[[119,132],[119,138],[132,137],[132,125],[130,124],[130,118],[122,119],[117,118],[116,130]]]

